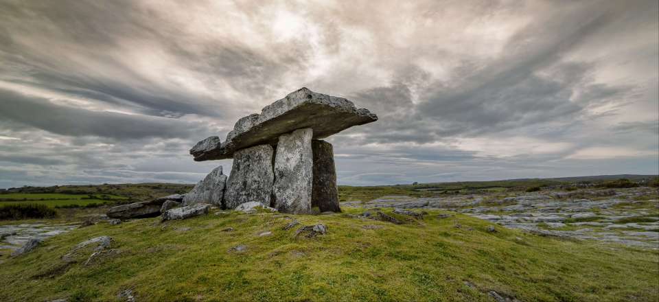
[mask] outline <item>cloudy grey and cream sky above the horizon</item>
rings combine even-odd
[[[338,183],[659,174],[658,1],[0,0],[0,188],[196,183],[301,87]]]

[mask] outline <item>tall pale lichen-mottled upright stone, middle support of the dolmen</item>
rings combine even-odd
[[[311,213],[313,154],[311,128],[279,137],[275,156],[275,208],[283,213]]]

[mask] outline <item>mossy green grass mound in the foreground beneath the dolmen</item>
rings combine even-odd
[[[492,301],[489,290],[520,301],[659,299],[657,251],[501,227],[490,233],[483,220],[428,212],[402,225],[291,216],[327,226],[327,235],[311,239],[284,231],[290,220],[276,213],[97,224],[1,257],[0,301],[117,301],[125,289],[138,301]],[[259,237],[262,231],[273,235]],[[89,266],[60,260],[100,235],[113,237],[115,254]],[[229,252],[239,244],[247,251]]]

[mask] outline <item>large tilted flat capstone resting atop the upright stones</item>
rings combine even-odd
[[[260,114],[242,117],[227,139],[209,137],[191,150],[195,161],[230,159],[235,151],[262,144],[275,145],[279,135],[312,128],[314,139],[323,139],[352,126],[377,121],[367,109],[358,109],[343,97],[333,97],[302,88],[263,108]]]

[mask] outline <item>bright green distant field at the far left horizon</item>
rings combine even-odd
[[[113,204],[120,200],[128,198],[107,194],[30,194],[30,193],[12,193],[0,195],[0,207],[3,205],[25,205],[39,204],[48,207],[65,207],[78,205],[84,207],[90,204],[101,205],[104,202]]]

